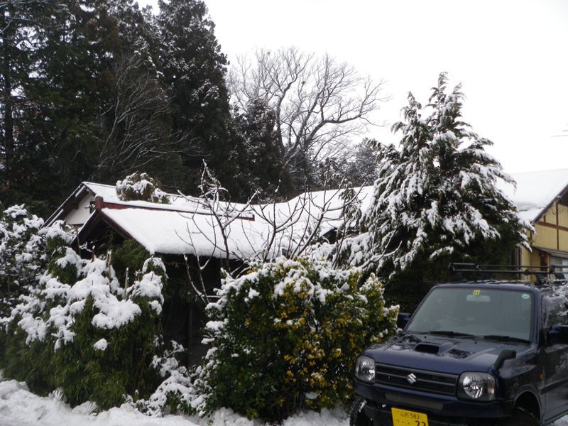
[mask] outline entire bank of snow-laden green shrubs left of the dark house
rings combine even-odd
[[[18,284],[17,294],[0,294],[5,376],[40,395],[60,388],[71,405],[130,402],[151,415],[193,413],[195,388],[176,359],[185,350],[162,339],[162,261],[126,241],[112,256],[121,282],[131,272],[132,285],[124,289],[109,259],[85,260],[66,246],[72,236],[62,222],[40,228],[43,221],[21,206],[4,213],[0,271]]]

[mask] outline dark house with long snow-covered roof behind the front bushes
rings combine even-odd
[[[371,191],[366,187],[357,196],[368,200]],[[114,186],[83,182],[46,226],[56,220],[76,226],[73,246],[82,256],[107,253],[125,240],[160,255],[168,269],[167,290],[181,289],[180,297],[170,295],[164,304],[165,337],[195,350],[205,320],[199,295],[214,293],[222,268],[295,253],[337,229],[345,204],[338,195],[338,190],[311,192],[289,202],[249,205],[168,194],[162,204],[124,201]]]

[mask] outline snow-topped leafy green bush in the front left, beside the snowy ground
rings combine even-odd
[[[148,258],[136,275],[125,290],[105,259],[60,251],[0,320],[7,332],[0,367],[36,392],[60,388],[71,405],[90,400],[106,409],[153,395],[164,380],[155,357],[173,363],[159,325],[165,266]]]

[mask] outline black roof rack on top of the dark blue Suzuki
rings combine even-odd
[[[550,266],[523,266],[523,265],[482,265],[479,263],[449,263],[449,271],[454,274],[454,280],[463,280],[464,273],[476,273],[484,276],[484,279],[491,279],[493,274],[515,274],[515,275],[535,275],[537,284],[550,283],[548,279],[552,275],[556,280],[566,280],[564,273],[557,270],[568,269],[568,265]],[[568,271],[567,271],[568,273]]]

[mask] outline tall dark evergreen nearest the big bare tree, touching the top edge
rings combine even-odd
[[[160,71],[171,94],[173,129],[189,135],[198,151],[185,158],[187,175],[175,185],[195,190],[205,159],[231,193],[239,192],[224,81],[227,60],[215,38],[214,23],[201,0],[160,0],[159,5]]]

